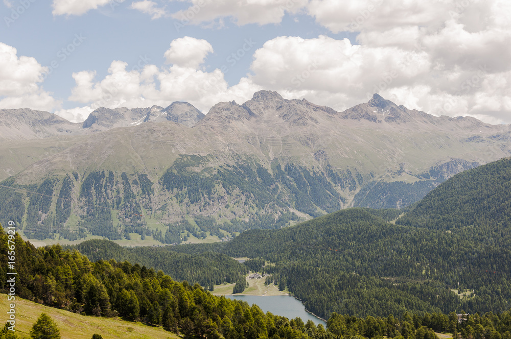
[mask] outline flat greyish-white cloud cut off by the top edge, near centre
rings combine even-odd
[[[224,18],[233,18],[237,25],[248,23],[280,23],[285,13],[297,13],[305,8],[308,0],[185,0],[190,3],[186,10],[172,14],[181,23],[195,25]],[[220,23],[221,25],[221,23]]]

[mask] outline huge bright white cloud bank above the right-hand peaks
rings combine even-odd
[[[445,29],[449,30],[449,25]],[[431,35],[419,29],[404,32],[417,37],[419,47],[392,38],[383,44],[353,45],[347,39],[327,36],[277,37],[255,51],[251,81],[281,92],[286,98],[305,97],[337,110],[367,101],[378,92],[410,109],[436,115],[477,115],[487,122],[511,122],[511,69],[475,67],[475,57],[467,62],[461,57],[463,52],[457,53],[458,49],[467,48],[463,43],[448,46],[445,42],[433,42],[443,41],[443,30]],[[464,54],[477,54],[478,60],[489,64],[492,54],[497,53],[485,51],[492,45],[491,34],[457,31],[447,36],[458,36],[461,41],[472,39],[468,43],[472,46],[480,44],[477,51]],[[370,40],[368,36],[364,39]],[[444,51],[442,48],[445,55],[438,52]],[[498,48],[499,56],[507,51],[507,46]]]

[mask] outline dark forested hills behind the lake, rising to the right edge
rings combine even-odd
[[[398,210],[352,208],[278,230],[248,230],[227,244],[154,251],[275,263],[269,280],[327,318],[502,312],[511,302],[510,164],[502,159],[459,174],[400,219]],[[139,251],[135,261],[144,258],[127,251]]]

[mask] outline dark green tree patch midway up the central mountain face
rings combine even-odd
[[[161,177],[160,183],[173,192],[180,203],[205,204],[222,199],[223,190],[227,195],[234,195],[239,190],[245,197],[245,205],[253,204],[258,210],[269,209],[272,212],[258,212],[253,219],[259,219],[259,224],[235,225],[233,230],[236,231],[253,227],[272,228],[274,223],[262,219],[268,215],[274,220],[275,213],[286,213],[283,201],[289,201],[299,211],[313,216],[324,214],[321,210],[339,210],[341,202],[344,202],[320,170],[293,164],[287,164],[283,170],[280,163],[274,162],[271,165],[272,176],[261,164],[249,159],[239,159],[234,164],[216,168],[207,167],[209,161],[209,157],[183,155]]]

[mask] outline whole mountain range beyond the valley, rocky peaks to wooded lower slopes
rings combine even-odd
[[[179,242],[349,206],[401,208],[511,153],[509,125],[433,116],[375,94],[337,112],[260,91],[207,114],[99,108],[83,124],[0,110],[0,215],[32,238]]]

